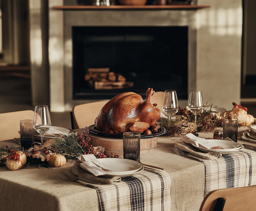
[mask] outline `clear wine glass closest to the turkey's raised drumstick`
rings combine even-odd
[[[178,112],[178,98],[175,90],[165,90],[162,110],[169,119],[175,119]]]

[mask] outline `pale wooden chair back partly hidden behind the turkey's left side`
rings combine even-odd
[[[85,126],[94,124],[94,121],[100,113],[101,108],[107,102],[108,101],[98,101],[74,106],[72,110],[74,129],[84,128]]]

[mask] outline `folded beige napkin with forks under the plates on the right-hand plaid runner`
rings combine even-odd
[[[174,147],[180,148],[182,151],[189,152],[191,154],[194,154],[200,158],[206,159],[206,160],[215,160],[222,156],[220,152],[202,152],[198,149],[196,149],[191,144],[187,144],[185,142],[178,142],[174,145]]]

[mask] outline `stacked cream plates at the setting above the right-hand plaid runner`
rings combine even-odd
[[[218,139],[207,139],[207,140],[217,146],[221,146],[224,149],[211,150],[211,149],[197,147],[192,143],[191,144],[192,144],[192,146],[196,147],[198,150],[200,150],[202,152],[220,152],[222,155],[233,154],[233,153],[236,153],[244,148],[244,146],[242,144],[239,144],[239,143],[233,142],[233,141],[218,140]]]

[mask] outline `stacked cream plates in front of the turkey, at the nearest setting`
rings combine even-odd
[[[106,177],[128,177],[134,174],[138,174],[144,170],[144,166],[135,160],[121,159],[121,158],[98,158],[98,161],[102,163]],[[86,170],[82,165],[81,168]]]

